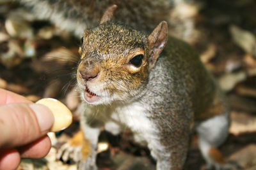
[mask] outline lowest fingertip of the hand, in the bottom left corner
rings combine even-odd
[[[17,169],[20,164],[20,154],[17,150],[1,150],[0,152],[0,170]]]

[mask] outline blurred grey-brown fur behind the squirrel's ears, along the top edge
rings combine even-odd
[[[131,25],[135,29],[151,31],[161,20],[166,20],[173,36],[193,41],[194,16],[184,12],[194,0],[13,0],[23,4],[35,16],[50,20],[58,27],[81,38],[85,28],[98,24],[102,13],[111,4],[117,4],[116,22]]]

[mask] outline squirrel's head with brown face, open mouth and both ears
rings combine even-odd
[[[111,22],[115,9],[116,5],[109,7],[100,24],[86,29],[81,39],[77,84],[90,104],[127,102],[142,96],[148,74],[166,45],[166,22],[147,36]]]

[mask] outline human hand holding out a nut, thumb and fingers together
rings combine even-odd
[[[16,169],[20,158],[42,158],[51,149],[54,118],[41,104],[0,89],[0,169]]]

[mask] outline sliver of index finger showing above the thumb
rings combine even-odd
[[[8,90],[0,89],[0,105],[10,103],[32,103],[26,97],[20,96]]]

